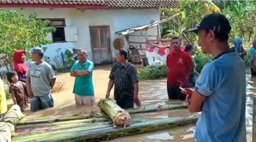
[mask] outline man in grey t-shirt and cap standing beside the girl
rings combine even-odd
[[[44,50],[35,47],[31,51],[32,62],[26,72],[26,86],[30,99],[30,111],[53,107],[51,90],[55,84],[55,72],[51,65],[43,61]]]

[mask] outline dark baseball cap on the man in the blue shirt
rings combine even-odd
[[[195,28],[187,30],[188,32],[198,33],[198,30],[212,30],[217,34],[229,34],[231,31],[230,22],[220,13],[213,13],[204,16],[200,24]]]

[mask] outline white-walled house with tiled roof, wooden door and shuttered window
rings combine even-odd
[[[47,36],[52,44],[45,45],[45,55],[55,58],[58,54],[56,58],[61,67],[65,51],[72,48],[84,48],[95,64],[112,62],[115,58],[113,41],[116,37],[125,40],[118,31],[158,21],[159,8],[177,6],[175,0],[0,0],[4,10],[15,9],[26,17],[37,11],[38,18],[51,21],[57,30]],[[157,27],[151,28],[147,34],[157,35],[157,31]],[[137,31],[136,34],[145,33]],[[133,38],[136,41],[141,37]],[[125,48],[128,48],[127,43]]]

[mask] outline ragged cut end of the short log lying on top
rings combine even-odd
[[[123,113],[121,110],[119,110],[113,119],[113,123],[116,125],[123,125],[124,128],[130,123],[131,116],[129,114]]]

